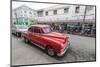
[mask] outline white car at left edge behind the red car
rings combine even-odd
[[[18,37],[21,36],[22,32],[27,31],[28,26],[26,25],[12,25],[12,33],[17,35]]]

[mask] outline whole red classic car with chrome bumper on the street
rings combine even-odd
[[[43,48],[49,56],[63,56],[70,45],[67,35],[53,32],[49,25],[32,25],[22,37],[25,42]]]

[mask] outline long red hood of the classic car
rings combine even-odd
[[[57,32],[50,32],[50,33],[42,34],[42,37],[50,39],[58,43],[64,43],[67,39],[66,35],[63,35]]]

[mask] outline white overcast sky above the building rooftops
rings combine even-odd
[[[46,7],[51,7],[51,6],[55,6],[58,4],[47,4],[47,3],[31,3],[31,2],[16,2],[13,1],[12,2],[12,9],[15,9],[21,5],[26,5],[29,6],[30,8],[34,9],[34,10],[38,10],[38,9],[42,9],[42,8],[46,8]]]

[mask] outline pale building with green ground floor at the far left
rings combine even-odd
[[[36,11],[22,5],[12,10],[12,22],[17,24],[31,24],[35,19]]]

